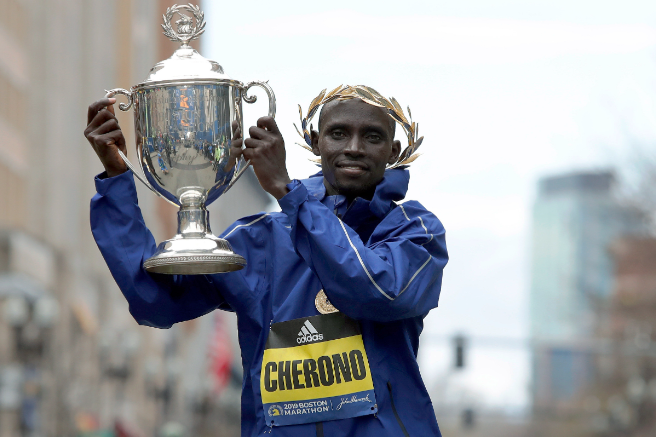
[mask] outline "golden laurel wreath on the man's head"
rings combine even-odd
[[[298,130],[298,126],[294,123],[294,127],[306,142],[306,144],[297,143],[300,147],[312,151],[312,140],[310,140],[310,131],[308,130],[308,124],[312,120],[319,109],[319,106],[332,102],[333,100],[348,100],[358,98],[366,102],[367,104],[382,107],[387,110],[387,113],[396,123],[400,124],[405,131],[405,134],[408,138],[408,146],[405,147],[403,152],[399,155],[398,159],[394,164],[389,164],[388,168],[396,168],[398,166],[410,164],[410,162],[415,161],[421,154],[415,153],[421,142],[424,140],[424,137],[417,138],[419,134],[419,123],[412,121],[412,113],[410,112],[410,107],[408,107],[408,117],[405,117],[401,105],[396,101],[394,97],[389,100],[380,95],[377,90],[370,88],[369,86],[364,85],[340,85],[331,92],[326,93],[326,90],[323,90],[319,95],[312,100],[310,107],[308,107],[308,113],[303,117],[303,110],[298,105],[298,114],[300,115],[300,127],[302,129]],[[312,130],[312,125],[310,124],[310,130]],[[311,159],[310,161],[321,162],[321,159]]]

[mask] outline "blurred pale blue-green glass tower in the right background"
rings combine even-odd
[[[533,209],[530,314],[533,407],[572,407],[593,371],[594,336],[613,290],[609,246],[646,234],[644,214],[615,196],[612,172],[544,178]]]

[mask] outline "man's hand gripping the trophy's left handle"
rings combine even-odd
[[[118,153],[121,149],[127,155],[125,137],[114,114],[115,102],[115,98],[102,98],[89,105],[87,128],[84,131],[84,136],[96,151],[109,178],[127,171],[127,165]]]

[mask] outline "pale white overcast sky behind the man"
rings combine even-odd
[[[492,339],[529,337],[537,181],[616,168],[631,182],[636,160],[656,152],[656,2],[208,1],[205,11],[201,54],[276,92],[292,178],[316,171],[293,123],[323,88],[364,84],[409,105],[425,138],[406,199],[441,219],[451,258],[425,320],[424,381],[438,406],[526,408],[528,351]],[[252,89],[247,125],[267,109]],[[471,345],[461,371],[456,333]]]

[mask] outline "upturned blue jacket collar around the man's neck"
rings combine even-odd
[[[368,206],[369,212],[378,218],[382,218],[394,207],[394,202],[403,200],[405,193],[408,191],[410,181],[410,172],[405,166],[385,170],[385,176],[377,185],[373,199],[365,200],[357,198],[354,200],[358,204],[357,210],[362,212],[364,206]],[[323,185],[323,173],[321,171],[313,174],[308,179],[302,180],[308,192],[319,199],[322,203],[326,199],[326,189]],[[330,197],[330,196],[328,196]]]

